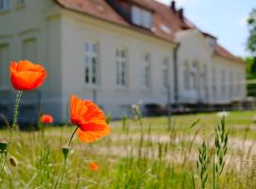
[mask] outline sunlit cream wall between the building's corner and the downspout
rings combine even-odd
[[[173,92],[174,44],[140,34],[137,31],[115,26],[82,14],[63,11],[63,88],[64,102],[70,93],[96,100],[105,112],[114,117],[130,111],[138,101],[165,105],[167,91],[162,87],[161,63],[169,60],[171,91]],[[87,40],[100,44],[100,83],[96,87],[84,84],[84,51]],[[128,52],[128,85],[116,86],[116,48]],[[151,87],[141,88],[141,59],[145,53],[152,55]]]

